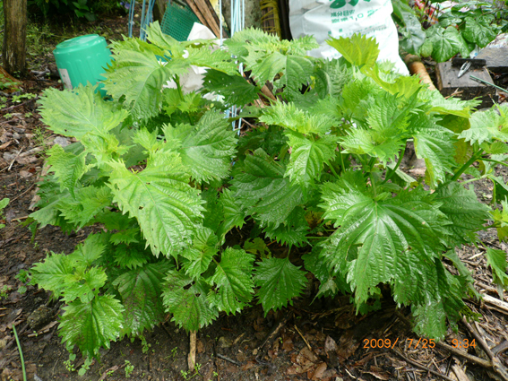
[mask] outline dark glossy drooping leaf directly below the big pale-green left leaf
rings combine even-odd
[[[168,261],[144,264],[113,281],[125,307],[125,333],[139,335],[164,321],[161,283],[171,267]]]

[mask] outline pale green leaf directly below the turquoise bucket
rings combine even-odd
[[[106,136],[128,115],[114,102],[102,100],[90,85],[74,91],[48,89],[39,102],[42,120],[51,131],[77,139],[85,134]]]

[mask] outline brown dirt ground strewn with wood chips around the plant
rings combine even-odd
[[[92,27],[107,33],[108,39],[117,39],[121,33],[126,34],[126,25],[125,17],[116,16],[102,19]],[[58,42],[54,40],[53,44]],[[29,93],[39,96],[50,86],[60,88],[54,65],[50,50],[31,56],[31,72],[22,78],[20,91],[0,94],[3,97],[0,199],[11,199],[4,211],[4,221],[0,221],[6,224],[0,230],[2,380],[22,379],[13,325],[20,338],[28,379],[38,381],[124,380],[127,377],[159,381],[506,379],[500,375],[508,367],[508,309],[504,309],[508,299],[499,296],[491,285],[490,268],[483,250],[478,247],[463,247],[460,255],[474,273],[477,290],[487,297],[483,301],[467,301],[478,314],[478,321],[461,322],[456,332],[449,331],[444,344],[434,346],[420,340],[411,331],[409,309],[397,310],[390,299],[383,302],[381,310],[366,316],[356,316],[347,296],[313,300],[317,285],[309,275],[306,293],[295,300],[294,306],[264,316],[262,307],[254,305],[241,315],[220,316],[213,325],[202,329],[197,337],[198,366],[193,370],[186,366],[188,334],[170,323],[168,316],[164,325],[145,335],[144,342],[124,339],[112,343],[111,349],[102,351],[100,360],[90,365],[84,377],[78,376],[83,359],[78,354],[73,361],[65,363],[69,355],[57,333],[61,304],[50,299],[47,292],[25,285],[18,276],[51,251],[71,253],[90,232],[82,229],[77,234],[66,235],[60,229],[47,227],[39,230],[32,241],[30,230],[22,226],[30,214],[44,152],[48,146],[62,143],[63,138],[51,135],[40,122],[37,98],[15,97]],[[505,182],[508,180],[506,171],[499,175]],[[475,190],[482,202],[490,202],[489,184],[478,184]],[[488,247],[507,250],[492,230],[481,232],[482,241]],[[242,230],[237,234],[247,232]],[[381,343],[387,339],[390,348]],[[453,351],[454,339],[459,342],[476,339],[476,347]],[[480,342],[488,350],[482,349]]]

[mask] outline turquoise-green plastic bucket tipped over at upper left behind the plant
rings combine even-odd
[[[87,82],[95,85],[103,81],[105,78],[101,74],[106,72],[105,67],[111,62],[106,39],[98,34],[67,39],[56,46],[53,55],[60,78],[69,90]],[[102,86],[99,83],[100,93],[106,96]]]

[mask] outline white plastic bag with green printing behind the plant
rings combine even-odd
[[[379,44],[378,61],[392,61],[400,74],[409,75],[399,56],[399,37],[392,21],[391,0],[289,0],[289,27],[293,38],[313,35],[320,48],[309,56],[339,58],[325,41],[355,33],[374,37]]]

